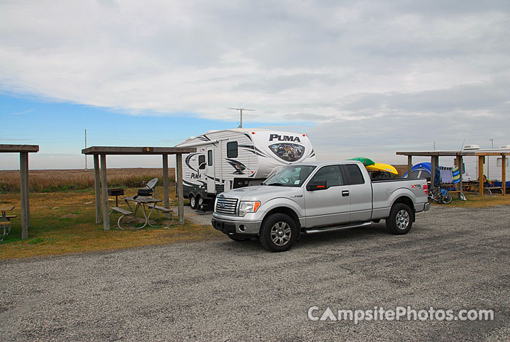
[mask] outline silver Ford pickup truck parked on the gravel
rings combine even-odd
[[[427,181],[370,180],[361,162],[306,162],[283,167],[262,185],[216,197],[212,224],[235,241],[255,237],[272,252],[292,247],[300,234],[360,227],[386,219],[406,234],[426,211]]]

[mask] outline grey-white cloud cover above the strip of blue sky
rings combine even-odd
[[[231,119],[228,108],[245,106],[257,110],[251,120],[317,123],[323,139],[335,140],[348,123],[350,141],[357,138],[352,125],[383,141],[416,126],[439,128],[437,139],[444,139],[459,131],[461,113],[470,120],[460,120],[462,134],[504,137],[509,7],[508,1],[2,1],[0,90],[133,114]],[[406,135],[408,143],[431,140]]]

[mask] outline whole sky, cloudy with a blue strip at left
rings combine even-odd
[[[39,145],[32,169],[83,168],[85,129],[88,146],[174,146],[250,108],[243,127],[306,133],[319,160],[499,147],[509,32],[507,0],[2,0],[0,144]]]

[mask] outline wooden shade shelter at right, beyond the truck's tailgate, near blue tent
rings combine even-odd
[[[412,157],[422,156],[430,157],[431,182],[434,185],[434,170],[439,166],[439,157],[456,157],[456,165],[462,170],[462,157],[478,157],[478,180],[479,195],[484,195],[484,161],[485,157],[501,156],[501,190],[503,196],[506,193],[506,155],[510,154],[510,150],[460,150],[460,151],[414,151],[414,152],[397,152],[397,155],[407,155],[407,175],[411,175]],[[462,171],[460,172],[460,182],[457,184],[457,190],[462,190]]]

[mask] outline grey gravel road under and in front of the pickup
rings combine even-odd
[[[0,341],[510,341],[510,207],[432,207],[303,237],[1,261]],[[494,321],[310,321],[310,306],[492,309]]]

